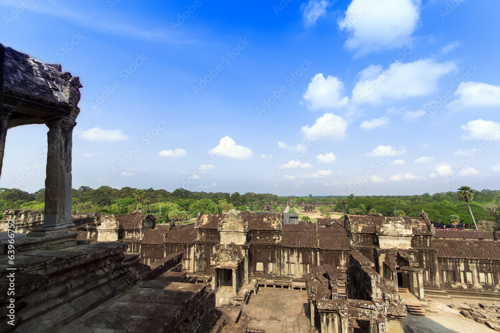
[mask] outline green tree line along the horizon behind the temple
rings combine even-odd
[[[465,188],[465,189],[464,189]],[[461,189],[461,190],[460,190]],[[500,191],[474,191],[461,187],[430,195],[411,196],[290,196],[290,211],[301,202],[305,204],[327,203],[317,208],[321,214],[342,212],[363,215],[377,212],[383,216],[418,216],[423,210],[435,223],[452,225],[467,223],[480,229],[498,230],[500,226]],[[101,186],[92,189],[81,186],[71,190],[71,212],[99,212],[103,214],[130,214],[134,210],[153,214],[160,222],[179,222],[196,217],[199,212],[220,213],[230,209],[260,211],[263,204],[271,210],[283,209],[287,197],[269,193],[245,194],[225,192],[191,192],[182,188],[168,192],[123,187],[115,189]],[[275,203],[278,203],[278,207]],[[0,212],[8,209],[43,209],[44,190],[28,193],[19,189],[0,188]],[[329,212],[327,212],[329,211]],[[325,215],[326,216],[326,215]]]

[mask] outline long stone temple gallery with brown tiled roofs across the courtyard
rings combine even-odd
[[[318,224],[297,220],[296,213],[200,214],[194,225],[146,231],[142,262],[182,252],[186,273],[212,279],[214,289],[233,286],[236,292],[252,278],[303,283],[312,268],[330,265],[343,277],[338,288],[344,291],[350,253],[357,251],[381,278],[420,299],[500,292],[496,233],[434,230],[423,213],[346,215]]]

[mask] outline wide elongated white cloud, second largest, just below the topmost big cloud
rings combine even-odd
[[[359,81],[352,89],[352,101],[381,103],[426,96],[436,91],[439,77],[454,69],[453,62],[437,63],[433,59],[407,63],[396,61],[386,70],[371,65],[360,72]],[[416,116],[416,113],[407,114],[408,117]]]

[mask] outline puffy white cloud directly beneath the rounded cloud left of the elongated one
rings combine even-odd
[[[347,121],[333,113],[325,113],[316,119],[311,127],[302,126],[302,133],[306,140],[321,140],[322,138],[331,141],[340,141],[347,136]]]

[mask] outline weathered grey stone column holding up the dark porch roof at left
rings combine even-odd
[[[40,230],[27,236],[45,237],[66,233],[71,220],[71,144],[76,123],[68,119],[47,120],[47,168],[45,178],[45,219]]]

